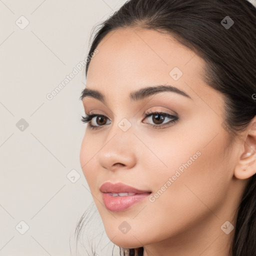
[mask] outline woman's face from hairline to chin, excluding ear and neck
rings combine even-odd
[[[115,30],[97,50],[86,88],[105,101],[92,94],[82,99],[85,113],[97,116],[90,122],[95,129],[86,126],[80,164],[109,239],[139,247],[188,234],[206,219],[219,221],[219,229],[226,219],[213,212],[230,188],[233,159],[221,125],[223,97],[203,82],[203,60],[169,35],[146,29]],[[158,85],[176,90],[134,96]],[[99,190],[106,181],[151,193],[111,210]]]

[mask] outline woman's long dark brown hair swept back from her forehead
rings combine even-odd
[[[234,22],[229,28],[221,22],[226,16]],[[230,140],[248,127],[256,115],[256,8],[249,1],[128,0],[99,24],[88,57],[118,28],[153,29],[191,49],[205,61],[205,83],[224,96],[223,128]],[[256,255],[256,175],[248,179],[236,213],[229,254]],[[143,247],[119,248],[120,255],[143,255]]]

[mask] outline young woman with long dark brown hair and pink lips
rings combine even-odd
[[[80,164],[120,254],[255,255],[256,8],[129,0],[88,56]]]

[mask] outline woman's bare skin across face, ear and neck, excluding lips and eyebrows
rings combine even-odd
[[[82,101],[85,113],[108,119],[98,130],[87,125],[80,164],[107,236],[121,247],[144,246],[144,256],[229,255],[234,230],[226,234],[220,227],[225,221],[235,225],[241,193],[255,173],[255,119],[232,144],[221,125],[224,98],[201,78],[203,59],[167,34],[121,28],[97,49],[86,87],[103,93],[107,104],[93,97]],[[183,73],[176,81],[169,75],[175,66]],[[130,92],[155,84],[171,84],[191,98],[160,92],[130,101]],[[175,111],[179,119],[154,128],[153,115],[143,119],[148,110]],[[131,124],[125,132],[117,125],[123,118]],[[200,156],[153,202],[120,212],[105,208],[99,191],[105,181],[155,194],[196,151]],[[118,229],[123,221],[131,226],[125,234]]]

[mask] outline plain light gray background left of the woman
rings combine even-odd
[[[83,69],[46,94],[85,59],[93,25],[124,2],[0,0],[0,256],[70,255],[69,237],[93,200],[79,162]]]

